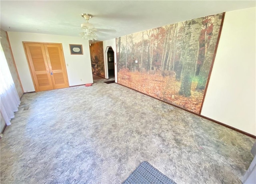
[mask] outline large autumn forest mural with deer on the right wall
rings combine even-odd
[[[117,38],[118,83],[199,114],[223,17]]]

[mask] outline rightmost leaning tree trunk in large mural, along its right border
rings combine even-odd
[[[213,55],[216,48],[216,43],[219,36],[220,31],[220,24],[222,19],[221,15],[216,15],[213,22],[213,30],[212,30],[212,37],[210,39],[210,43],[207,49],[206,57],[204,58],[204,63],[201,67],[201,70],[198,75],[198,84],[196,86],[196,90],[204,90],[206,86],[206,82],[208,80],[208,75],[210,71],[210,66],[212,65]]]

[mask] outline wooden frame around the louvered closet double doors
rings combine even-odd
[[[34,85],[34,88],[35,88],[35,91],[37,92],[37,88],[36,88],[36,83],[34,81],[34,76],[33,76],[33,72],[31,70],[31,67],[30,67],[30,63],[29,63],[29,59],[28,59],[28,55],[27,55],[27,52],[26,52],[26,46],[25,44],[26,43],[39,43],[39,44],[60,44],[60,47],[61,47],[61,50],[62,50],[62,58],[63,58],[63,61],[64,61],[64,70],[66,71],[66,76],[67,76],[67,80],[68,80],[68,72],[67,72],[67,69],[66,69],[66,61],[65,61],[65,57],[64,57],[64,52],[63,52],[63,47],[62,47],[62,43],[48,43],[48,42],[36,42],[36,41],[22,41],[22,45],[23,45],[23,49],[24,49],[24,52],[25,52],[25,55],[26,55],[26,59],[27,59],[27,64],[28,64],[28,68],[29,68],[29,71],[30,71],[30,76],[32,78],[32,82],[33,82],[33,85]],[[69,86],[69,80],[68,80],[68,87]]]

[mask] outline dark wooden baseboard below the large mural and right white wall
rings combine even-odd
[[[116,83],[116,84],[119,84],[119,83]],[[124,86],[123,84],[119,84],[119,85]],[[128,86],[124,86],[124,87],[129,88],[129,89],[131,89],[131,90],[134,90],[134,91],[136,91],[136,92],[142,93],[142,94],[144,94],[144,95],[150,96],[150,95],[148,95],[148,94],[146,94],[146,93],[143,93],[143,92],[140,92],[140,91],[138,91],[138,90],[132,89],[132,88],[130,88],[130,87],[128,87]],[[171,104],[171,103],[169,103],[169,102],[165,102],[164,100],[158,99],[158,98],[156,98],[156,97],[154,97],[154,96],[150,96],[150,97],[155,98],[156,100],[160,100],[160,101],[162,101],[162,102],[164,102],[164,103],[166,103],[166,104],[170,104],[170,105],[172,105],[172,106],[175,106],[175,107],[177,107],[177,108],[180,108],[180,109],[182,109],[182,110],[185,110],[185,111],[187,111],[187,112],[190,112],[190,113],[192,113],[192,114],[198,115],[198,116],[200,116],[200,117],[203,117],[203,118],[205,118],[205,119],[208,119],[208,120],[210,120],[210,121],[213,121],[214,123],[218,123],[218,124],[220,124],[220,125],[222,125],[222,126],[224,126],[224,127],[230,128],[230,129],[232,129],[232,130],[234,130],[234,131],[238,131],[239,133],[242,133],[242,134],[244,134],[244,135],[247,135],[247,136],[249,136],[249,137],[252,137],[252,138],[256,139],[256,135],[252,135],[252,134],[250,134],[250,133],[247,133],[247,132],[245,132],[245,131],[242,131],[242,130],[240,130],[240,129],[237,129],[237,128],[235,128],[235,127],[232,127],[232,126],[230,126],[230,125],[226,125],[225,123],[222,123],[222,122],[220,122],[220,121],[216,121],[216,120],[214,120],[214,119],[211,119],[210,117],[206,117],[206,116],[204,116],[204,115],[197,114],[197,113],[195,113],[195,112],[192,112],[192,111],[190,111],[190,110],[184,109],[184,108],[182,108],[182,107],[180,107],[180,106],[177,106],[177,105],[175,105],[175,104]]]

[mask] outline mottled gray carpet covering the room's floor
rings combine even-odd
[[[177,184],[239,184],[256,141],[119,84],[24,94],[2,184],[120,184],[143,161]]]

